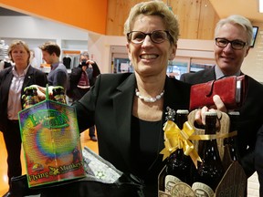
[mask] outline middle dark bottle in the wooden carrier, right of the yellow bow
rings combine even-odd
[[[216,134],[216,112],[205,112],[205,134]],[[198,162],[192,186],[196,196],[213,196],[224,175],[224,168],[217,149],[216,140],[204,140],[203,150],[199,150],[203,162]]]

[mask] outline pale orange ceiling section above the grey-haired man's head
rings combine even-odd
[[[263,13],[258,12],[258,0],[209,0],[220,18],[230,15],[247,17],[252,23],[263,23]]]

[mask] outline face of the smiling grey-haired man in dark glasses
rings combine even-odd
[[[229,41],[240,40],[247,43],[246,31],[241,26],[225,24],[216,32],[216,37],[225,38]],[[240,70],[245,57],[247,57],[249,47],[246,45],[242,49],[233,49],[228,43],[226,47],[218,47],[215,43],[216,64],[225,75],[234,75]]]

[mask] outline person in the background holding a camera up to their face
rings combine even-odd
[[[69,75],[69,89],[67,95],[75,100],[81,99],[92,87],[100,75],[100,68],[95,61],[89,59],[89,53],[83,52],[79,56],[79,67],[74,67]],[[97,141],[95,126],[89,128],[90,140]]]

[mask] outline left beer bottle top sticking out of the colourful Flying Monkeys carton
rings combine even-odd
[[[36,87],[26,87],[24,88],[24,92],[25,94],[22,96],[23,109],[30,108],[39,102]]]

